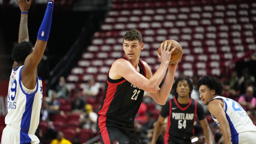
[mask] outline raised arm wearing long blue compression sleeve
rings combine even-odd
[[[37,41],[34,45],[33,52],[25,59],[24,67],[21,71],[21,80],[27,89],[33,89],[36,85],[36,67],[42,59],[49,38],[52,23],[53,4],[54,0],[48,0],[46,12],[38,31]]]

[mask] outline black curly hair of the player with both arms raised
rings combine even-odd
[[[14,46],[12,49],[12,60],[16,61],[17,63],[24,63],[26,57],[32,53],[33,51],[33,44],[31,42],[20,42]]]

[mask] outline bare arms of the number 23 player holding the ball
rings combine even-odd
[[[130,64],[130,62],[128,62],[127,60],[124,59],[118,59],[116,60],[113,64],[112,67],[110,69],[110,73],[113,75],[119,75],[123,78],[125,78],[126,80],[128,80],[130,83],[134,84],[135,86],[139,87],[140,89],[143,89],[144,91],[147,91],[149,93],[156,93],[154,100],[161,104],[164,105],[167,97],[171,91],[171,86],[169,85],[169,91],[165,91],[163,92],[165,95],[164,96],[159,96],[160,94],[160,89],[159,89],[159,85],[162,81],[162,79],[165,76],[166,70],[168,68],[169,65],[169,61],[171,58],[171,53],[175,50],[175,48],[173,48],[171,51],[170,47],[171,47],[171,43],[169,44],[169,46],[167,47],[167,43],[161,44],[161,47],[163,47],[163,49],[161,49],[161,58],[160,58],[160,66],[158,68],[158,70],[156,71],[156,73],[154,75],[152,75],[152,72],[149,68],[149,65],[146,64],[145,62],[143,62],[144,66],[145,66],[145,70],[146,70],[146,78],[139,74],[133,67],[132,64]],[[177,65],[177,64],[176,64]],[[174,77],[174,73],[175,73],[175,69],[172,69],[171,71],[168,72],[168,78],[170,77]],[[171,78],[170,78],[171,79]],[[173,78],[172,78],[173,79]],[[173,81],[169,81],[168,83],[172,85]]]

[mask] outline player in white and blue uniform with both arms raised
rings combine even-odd
[[[48,41],[52,23],[54,0],[48,0],[47,9],[34,45],[28,42],[27,18],[31,2],[17,0],[21,10],[18,44],[12,50],[14,64],[7,97],[8,113],[2,133],[2,144],[38,144],[34,134],[39,123],[42,105],[42,80],[37,76]]]

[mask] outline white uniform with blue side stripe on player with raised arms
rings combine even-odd
[[[42,79],[37,78],[34,89],[29,90],[21,82],[23,66],[12,70],[7,97],[8,113],[2,133],[2,144],[38,144],[34,134],[39,124],[42,106]]]

